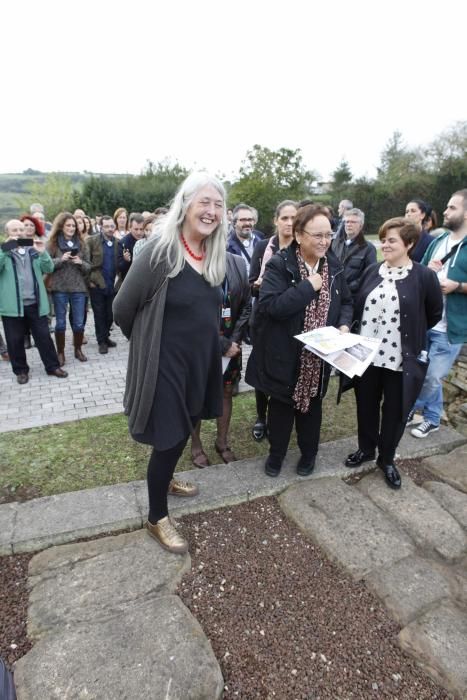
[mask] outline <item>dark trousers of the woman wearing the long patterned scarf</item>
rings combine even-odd
[[[305,457],[318,453],[321,432],[321,399],[311,399],[308,413],[296,411],[292,405],[270,398],[268,405],[269,454],[276,461],[284,459],[295,422],[297,443]]]

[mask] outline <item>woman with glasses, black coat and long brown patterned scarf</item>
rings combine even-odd
[[[352,319],[343,268],[329,250],[329,211],[314,204],[301,207],[293,235],[290,246],[266,265],[246,372],[246,381],[271,397],[268,476],[281,470],[294,422],[301,451],[298,474],[311,474],[318,452],[321,402],[331,367],[294,336],[323,326],[348,331]]]

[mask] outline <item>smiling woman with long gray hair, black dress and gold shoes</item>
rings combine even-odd
[[[187,541],[168,517],[167,495],[195,496],[173,479],[193,427],[222,415],[220,285],[225,277],[225,192],[192,173],[134,260],[114,300],[115,321],[130,340],[124,397],[132,437],[152,445],[146,527],[165,549]]]

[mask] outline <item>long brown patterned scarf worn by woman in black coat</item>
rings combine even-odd
[[[298,247],[296,253],[300,277],[304,280],[308,277],[309,273]],[[324,265],[320,274],[323,284],[318,298],[308,304],[305,309],[303,333],[312,331],[315,328],[322,328],[326,325],[329,304],[331,303],[331,294],[329,292],[329,268],[326,258],[324,258]],[[300,413],[307,413],[310,407],[310,399],[318,395],[320,373],[321,359],[303,347],[300,355],[300,371],[293,394],[295,408],[297,411],[300,411]]]

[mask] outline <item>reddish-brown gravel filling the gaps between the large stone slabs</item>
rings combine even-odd
[[[417,460],[403,468],[427,478]],[[452,698],[400,651],[398,625],[365,585],[331,564],[274,498],[180,523],[192,569],[179,595],[211,640],[225,700]],[[31,556],[0,558],[0,657],[10,667],[31,646]]]

